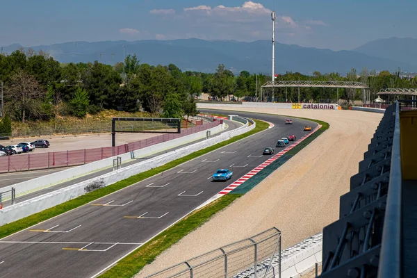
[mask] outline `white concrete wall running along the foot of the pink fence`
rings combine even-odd
[[[133,151],[133,154],[135,158],[141,158],[144,156],[149,156],[150,154],[155,154],[157,152],[163,152],[165,149],[171,149],[172,147],[180,146],[180,145],[186,144],[187,142],[192,142],[195,140],[205,138],[207,131],[210,131],[211,134],[218,133],[222,131],[223,127],[224,126],[220,124],[211,129],[206,129],[204,131],[199,131],[197,133],[193,133],[188,136],[183,136],[183,137],[169,140],[166,142],[161,142],[159,144],[152,145],[150,147],[138,149],[136,151]],[[31,179],[28,181],[23,181],[21,183],[15,183],[13,186],[6,186],[2,188],[2,190],[6,191],[14,187],[16,189],[16,195],[19,196],[23,193],[28,193],[33,190],[45,188],[45,187],[54,185],[58,182],[67,181],[67,180],[73,179],[74,177],[80,177],[90,172],[95,172],[97,170],[101,170],[107,167],[112,167],[113,159],[115,159],[116,157],[117,156],[104,158],[100,161],[94,161],[92,163],[72,167],[67,170],[49,174],[47,176],[38,177],[38,178]],[[120,154],[118,157],[122,158],[122,163],[125,163],[127,161],[131,161],[132,154],[131,152],[128,152],[126,154]]]

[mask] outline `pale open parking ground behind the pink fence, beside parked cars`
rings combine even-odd
[[[160,136],[161,134],[165,133],[116,133],[116,145],[124,145],[130,142]],[[111,133],[83,134],[77,136],[44,136],[42,138],[15,138],[13,140],[0,140],[0,145],[15,145],[19,144],[19,142],[33,142],[40,139],[48,140],[51,143],[51,146],[45,149],[37,147],[33,152],[22,153],[19,155],[111,147]]]

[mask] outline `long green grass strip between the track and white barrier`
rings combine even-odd
[[[216,145],[213,145],[211,147],[207,147],[206,149],[201,149],[197,152],[194,152],[193,154],[188,154],[188,156],[184,156],[184,157],[179,158],[175,161],[171,161],[170,163],[167,163],[167,164],[162,165],[160,167],[156,167],[152,170],[142,172],[140,174],[136,174],[136,175],[134,175],[132,177],[129,177],[127,179],[124,179],[122,181],[118,181],[117,183],[114,183],[111,186],[106,186],[105,188],[100,188],[99,190],[95,190],[92,193],[82,195],[80,197],[72,199],[72,200],[70,200],[68,202],[65,202],[63,204],[59,204],[58,206],[48,208],[44,211],[41,211],[40,213],[35,213],[35,214],[30,215],[26,218],[22,218],[21,220],[17,220],[15,222],[5,224],[5,225],[1,226],[0,238],[10,236],[10,234],[14,234],[17,231],[21,231],[22,229],[26,229],[28,227],[31,227],[31,226],[33,226],[35,224],[38,224],[38,223],[40,223],[44,220],[48,220],[49,218],[53,218],[54,216],[60,215],[62,213],[70,211],[74,208],[78,208],[79,206],[83,206],[84,204],[88,204],[89,202],[92,202],[96,199],[104,197],[108,194],[114,193],[115,191],[120,190],[122,188],[126,188],[127,186],[131,186],[133,183],[137,183],[139,181],[142,181],[144,179],[152,177],[152,176],[154,176],[154,175],[156,175],[160,172],[170,170],[171,168],[176,167],[177,165],[180,165],[181,163],[185,163],[186,161],[190,161],[193,158],[197,158],[198,156],[202,156],[203,154],[207,154],[208,152],[211,152],[215,149],[218,149],[220,147],[224,147],[226,145],[229,145],[232,142],[236,142],[237,140],[246,138],[247,136],[251,136],[254,133],[258,133],[260,131],[268,129],[268,126],[269,125],[267,123],[256,120],[256,127],[254,129],[252,129],[252,131],[244,133],[240,136],[236,136],[236,137],[231,138],[229,140],[226,140],[224,142],[220,142],[220,143],[218,143]]]

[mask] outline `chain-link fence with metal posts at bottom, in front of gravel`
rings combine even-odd
[[[280,252],[281,231],[272,228],[252,238],[231,243],[173,265],[146,278],[228,278],[240,277],[238,273],[245,270],[250,270],[254,278],[261,278],[257,269],[259,263]],[[273,272],[279,277],[280,265],[281,263],[278,268],[268,268],[266,273]]]

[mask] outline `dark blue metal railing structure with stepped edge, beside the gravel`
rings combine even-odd
[[[323,229],[320,277],[400,277],[399,112],[398,102],[386,108],[341,197],[340,219]]]

